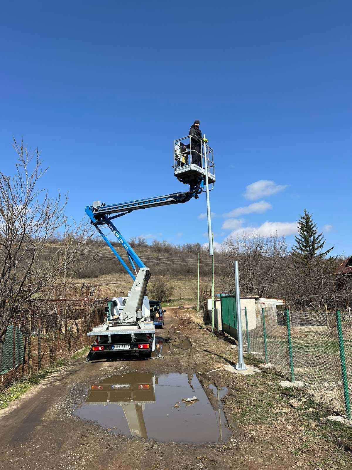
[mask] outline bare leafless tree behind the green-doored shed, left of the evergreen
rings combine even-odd
[[[226,255],[223,266],[223,285],[234,286],[234,261],[238,261],[241,295],[279,295],[275,284],[283,281],[288,249],[285,237],[277,234],[252,236],[243,234],[224,242]]]

